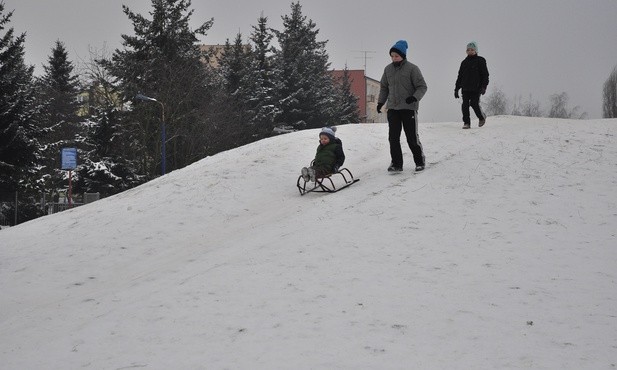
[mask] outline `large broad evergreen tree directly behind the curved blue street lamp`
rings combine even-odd
[[[161,140],[166,128],[168,171],[181,168],[207,155],[210,138],[205,113],[215,91],[214,78],[203,64],[198,35],[206,35],[213,20],[195,30],[189,27],[193,11],[190,0],[152,0],[152,19],[123,6],[133,23],[135,35],[122,35],[123,49],[117,49],[106,68],[118,80],[127,101],[137,93],[155,98],[160,104],[134,101],[127,117],[132,136],[139,146],[131,153],[142,164],[147,178],[160,174]],[[164,121],[163,121],[164,119]]]

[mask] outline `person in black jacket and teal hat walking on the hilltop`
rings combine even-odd
[[[486,114],[480,108],[480,95],[486,93],[488,86],[488,68],[486,59],[478,55],[478,43],[475,41],[467,44],[467,57],[461,62],[458,70],[458,77],[454,85],[454,98],[458,99],[458,91],[463,90],[463,128],[471,127],[469,107],[473,109],[478,117],[478,126],[482,127],[486,123]]]

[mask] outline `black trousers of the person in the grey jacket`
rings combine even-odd
[[[416,166],[424,166],[424,153],[418,136],[418,121],[413,110],[388,109],[388,141],[390,141],[390,156],[392,164],[403,168],[403,151],[401,149],[401,131],[405,130],[407,144]]]

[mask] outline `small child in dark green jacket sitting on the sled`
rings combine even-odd
[[[310,167],[303,167],[301,170],[304,181],[314,182],[317,178],[338,172],[345,162],[343,142],[334,135],[335,132],[336,127],[334,126],[321,129],[315,159]]]

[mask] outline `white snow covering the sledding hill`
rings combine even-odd
[[[0,231],[1,369],[615,369],[617,120],[340,126]],[[404,136],[403,136],[404,138]]]

